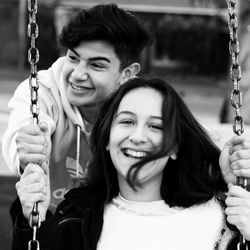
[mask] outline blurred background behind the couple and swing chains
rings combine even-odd
[[[29,76],[27,0],[0,0],[0,142],[7,126],[7,103],[16,86]],[[170,81],[197,119],[223,140],[232,136],[229,77],[228,10],[226,0],[38,0],[40,52],[38,69],[48,68],[64,51],[57,36],[78,8],[117,3],[146,22],[153,45],[141,58],[143,73]],[[246,133],[250,123],[250,1],[238,0],[242,114]],[[250,134],[250,133],[249,133]],[[16,196],[17,176],[0,154],[0,249],[10,249],[8,209]]]

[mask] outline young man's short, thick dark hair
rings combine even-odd
[[[103,41],[110,44],[121,61],[121,69],[138,61],[143,48],[150,45],[150,31],[138,18],[116,4],[81,9],[63,28],[60,44],[69,49],[81,42]]]

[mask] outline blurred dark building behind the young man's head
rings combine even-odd
[[[37,22],[40,68],[59,56],[56,37],[78,8],[115,2],[149,23],[154,46],[142,58],[146,72],[224,74],[228,64],[228,31],[224,0],[44,0]],[[1,68],[27,67],[27,0],[0,0]],[[53,30],[53,28],[55,28]],[[176,71],[177,70],[177,71]]]

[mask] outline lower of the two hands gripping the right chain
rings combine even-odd
[[[250,240],[250,192],[229,184],[225,202],[227,221],[235,225],[246,240]]]

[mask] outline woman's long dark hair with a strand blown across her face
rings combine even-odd
[[[219,149],[197,122],[177,92],[161,79],[132,78],[123,84],[100,109],[91,135],[93,160],[90,180],[104,190],[106,201],[119,192],[116,169],[106,150],[111,124],[122,98],[138,88],[152,88],[163,96],[163,141],[159,152],[135,164],[127,176],[136,189],[136,176],[146,162],[176,150],[177,159],[169,158],[163,172],[161,196],[170,206],[189,207],[206,202],[226,190],[219,167]],[[133,171],[134,170],[134,171]]]

